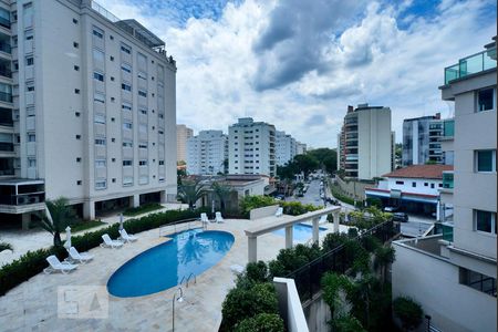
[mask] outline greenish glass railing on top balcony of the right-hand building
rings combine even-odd
[[[492,68],[496,68],[496,46],[460,59],[457,64],[445,68],[445,84]]]

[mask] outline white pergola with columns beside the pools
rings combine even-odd
[[[313,242],[318,243],[320,240],[320,217],[332,214],[334,218],[334,232],[339,232],[339,214],[341,211],[340,206],[331,206],[317,211],[307,212],[299,216],[283,215],[281,217],[271,217],[270,222],[261,225],[251,229],[246,229],[246,236],[248,239],[248,260],[255,262],[258,260],[258,237],[263,234],[271,232],[277,229],[286,228],[286,248],[292,247],[293,241],[293,225],[302,221],[312,221],[313,225]]]

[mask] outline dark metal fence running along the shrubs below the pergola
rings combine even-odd
[[[359,236],[356,240],[363,242],[365,236],[369,235],[376,237],[382,242],[386,242],[400,235],[400,224],[392,220],[385,221],[369,229]],[[353,260],[346,253],[345,246],[341,245],[289,273],[286,278],[294,279],[301,302],[305,302],[307,300],[312,299],[313,295],[321,290],[321,279],[325,272],[344,273],[351,268],[352,263]]]

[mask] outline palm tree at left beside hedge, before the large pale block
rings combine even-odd
[[[45,206],[49,211],[40,215],[40,227],[53,235],[53,245],[62,245],[61,232],[76,219],[76,214],[68,205],[68,198],[59,197],[55,200],[46,200]]]

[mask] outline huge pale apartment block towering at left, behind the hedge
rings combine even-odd
[[[175,77],[160,39],[93,1],[1,1],[0,212],[175,197]]]

